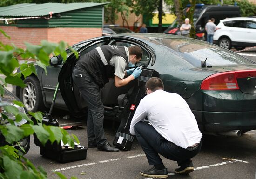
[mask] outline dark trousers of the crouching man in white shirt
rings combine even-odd
[[[172,142],[164,139],[153,126],[147,122],[138,122],[135,124],[136,137],[146,154],[149,165],[162,164],[162,159],[158,154],[163,157],[177,161],[178,166],[189,165],[192,157],[195,157],[200,152],[201,142],[194,150],[184,149],[175,145]]]

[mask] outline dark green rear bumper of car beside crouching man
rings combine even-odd
[[[242,132],[256,129],[256,111],[203,112],[192,110],[202,132]]]

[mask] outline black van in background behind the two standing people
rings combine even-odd
[[[191,5],[188,5],[183,10],[183,14],[186,17],[186,13],[189,11]],[[214,18],[215,24],[217,25],[220,20],[226,17],[240,17],[240,10],[238,6],[217,6],[217,5],[204,5],[196,4],[195,11],[193,14],[195,38],[200,40],[206,40],[205,25],[209,19]],[[180,35],[180,27],[177,20],[171,24],[168,29],[164,31],[167,34]]]

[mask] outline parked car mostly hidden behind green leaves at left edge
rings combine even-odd
[[[13,100],[20,100],[18,99],[13,93],[11,93],[10,91],[8,91],[7,89],[4,89],[4,95],[2,97],[0,97],[0,108],[1,108],[1,113],[5,114],[9,119],[14,120],[14,124],[16,126],[21,126],[23,124],[27,123],[27,120],[25,119],[21,119],[20,122],[16,122],[15,121],[15,116],[13,114],[7,113],[2,106],[5,105],[13,105],[15,107],[18,108],[19,112],[21,113],[26,113],[25,109],[23,107],[17,106],[15,104],[13,104]],[[2,118],[2,115],[0,113],[0,124],[1,125],[10,125],[10,123]],[[8,143],[5,141],[5,137],[2,135],[1,131],[0,131],[0,146],[5,146]],[[30,148],[30,136],[17,141],[17,143],[13,144],[14,147],[18,150],[20,150],[20,146],[24,148],[25,152],[27,153],[29,148]],[[20,146],[19,146],[20,145]]]

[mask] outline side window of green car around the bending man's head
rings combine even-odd
[[[135,44],[132,44],[130,42],[125,42],[125,41],[115,41],[111,45],[129,47],[129,46],[134,46]],[[143,52],[143,54],[142,54],[141,60],[138,63],[136,63],[135,65],[136,66],[147,67],[148,63],[150,61],[150,54],[146,50],[144,50],[143,48],[142,48],[142,52]]]

